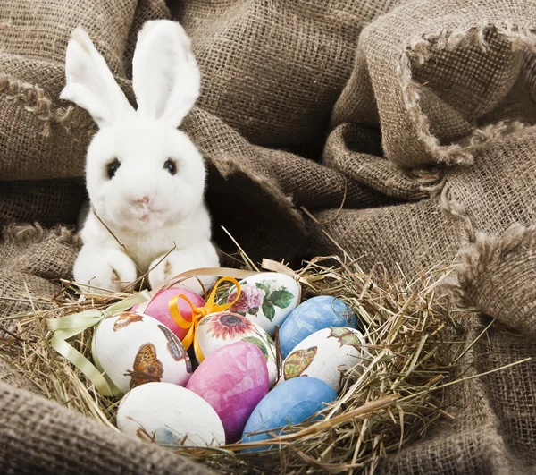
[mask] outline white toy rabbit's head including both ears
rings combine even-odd
[[[135,110],[84,30],[67,47],[60,98],[85,108],[99,131],[88,148],[89,199],[109,225],[133,231],[180,222],[203,201],[205,166],[177,127],[199,96],[188,35],[174,21],[147,21],[132,60]]]

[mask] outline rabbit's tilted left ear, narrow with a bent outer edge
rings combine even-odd
[[[99,127],[133,114],[105,58],[96,51],[86,31],[77,28],[67,46],[66,85],[60,98],[83,107]]]

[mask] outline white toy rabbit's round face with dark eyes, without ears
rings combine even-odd
[[[88,148],[87,186],[106,223],[148,231],[196,211],[205,165],[183,132],[133,118],[96,134]]]

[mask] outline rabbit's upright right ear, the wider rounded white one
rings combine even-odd
[[[147,21],[132,60],[138,114],[178,127],[199,97],[200,75],[179,23]]]

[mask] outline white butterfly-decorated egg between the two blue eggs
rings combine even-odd
[[[344,371],[356,365],[364,369],[366,357],[364,337],[350,327],[323,328],[297,344],[285,358],[279,384],[293,377],[322,379],[339,391]]]

